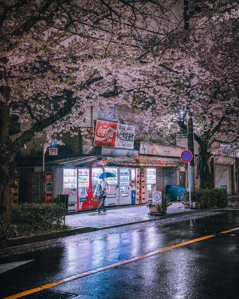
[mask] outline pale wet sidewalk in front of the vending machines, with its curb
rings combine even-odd
[[[235,209],[235,207],[231,207],[229,209]],[[70,229],[68,230],[11,239],[5,243],[4,247],[12,247],[50,239],[57,239],[65,236],[75,235],[78,233],[87,233],[130,224],[138,224],[160,219],[163,220],[165,218],[174,218],[184,215],[195,215],[202,213],[204,214],[216,211],[218,211],[218,208],[202,210],[185,209],[184,205],[181,202],[174,202],[167,208],[167,214],[164,216],[148,215],[149,210],[145,205],[130,206],[124,208],[108,208],[107,212],[101,212],[100,214],[98,214],[96,211],[71,214],[66,216],[66,224],[70,227]]]

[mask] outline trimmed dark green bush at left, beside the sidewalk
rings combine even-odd
[[[12,223],[20,235],[49,231],[62,226],[66,208],[55,204],[28,204],[12,208]]]

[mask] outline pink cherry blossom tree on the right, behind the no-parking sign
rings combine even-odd
[[[212,155],[238,149],[238,15],[234,1],[188,2],[186,30],[170,36],[159,53],[145,57],[138,73],[135,105],[146,122],[168,134],[178,126],[179,110],[194,122],[199,144],[200,187],[210,187],[208,162]],[[191,4],[191,6],[190,6]],[[193,18],[193,19],[192,19]],[[227,148],[212,150],[215,142]]]

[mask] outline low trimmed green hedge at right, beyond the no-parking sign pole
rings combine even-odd
[[[227,206],[227,194],[221,189],[194,189],[191,191],[191,200],[201,203],[202,209],[211,207],[225,208]],[[183,204],[189,206],[189,192],[183,192]]]

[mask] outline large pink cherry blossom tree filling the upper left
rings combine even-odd
[[[7,222],[16,153],[43,133],[47,142],[84,128],[90,106],[125,103],[132,89],[125,70],[136,73],[140,57],[180,27],[165,0],[0,1],[0,204]],[[28,125],[15,138],[11,115]]]

